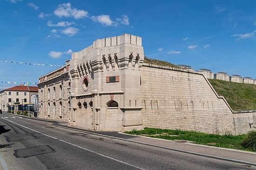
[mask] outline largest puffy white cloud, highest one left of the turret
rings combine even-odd
[[[54,14],[58,17],[74,17],[75,19],[88,17],[88,12],[84,10],[78,10],[71,7],[71,3],[60,4],[58,8],[54,10]]]

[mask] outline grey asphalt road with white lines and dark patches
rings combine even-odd
[[[216,160],[0,114],[3,170],[255,170]]]

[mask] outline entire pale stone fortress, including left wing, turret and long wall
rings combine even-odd
[[[98,131],[155,127],[241,134],[256,122],[256,111],[233,111],[191,67],[144,63],[141,37],[129,34],[95,40],[41,76],[38,86],[39,117]]]

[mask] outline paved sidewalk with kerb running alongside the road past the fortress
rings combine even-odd
[[[16,116],[22,116],[22,115],[16,115]],[[121,132],[86,130],[86,129],[81,129],[77,127],[68,126],[67,122],[64,122],[61,120],[59,121],[59,120],[43,119],[43,118],[33,118],[33,119],[39,120],[39,121],[52,122],[54,126],[63,127],[66,129],[72,129],[75,131],[82,131],[85,133],[90,133],[90,134],[100,135],[105,137],[112,137],[112,138],[133,142],[137,144],[144,144],[144,145],[154,146],[162,149],[174,150],[174,151],[179,151],[183,153],[203,156],[203,157],[211,157],[214,159],[220,159],[220,160],[225,160],[230,162],[244,163],[244,164],[256,166],[256,152],[234,150],[234,149],[228,149],[228,148],[219,148],[219,147],[207,146],[207,145],[201,145],[201,144],[176,143],[175,141],[171,141],[171,140],[128,135]]]

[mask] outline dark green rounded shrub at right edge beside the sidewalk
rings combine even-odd
[[[256,151],[256,131],[250,131],[246,134],[241,145],[246,149]]]

